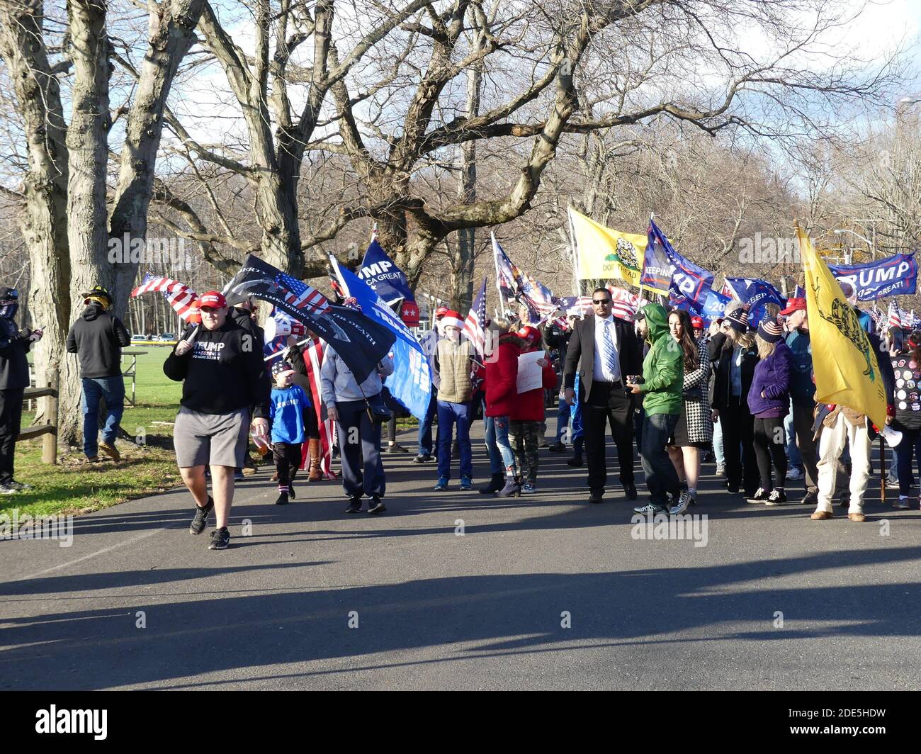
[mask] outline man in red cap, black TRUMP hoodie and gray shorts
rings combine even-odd
[[[189,531],[201,534],[215,509],[216,529],[209,549],[227,549],[227,519],[233,503],[234,467],[243,465],[247,433],[268,435],[270,386],[257,341],[227,316],[227,300],[216,290],[198,300],[202,324],[197,337],[187,330],[163,363],[170,380],[182,381],[182,399],[173,430],[176,462],[192,492],[195,517]],[[208,495],[204,466],[211,467],[214,498]]]

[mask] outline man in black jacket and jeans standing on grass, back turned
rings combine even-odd
[[[87,461],[99,461],[99,450],[122,460],[115,448],[119,424],[124,412],[124,378],[122,378],[122,348],[131,343],[131,336],[122,320],[111,313],[111,293],[101,286],[93,286],[83,296],[87,308],[67,334],[67,353],[76,353],[80,359],[80,377],[83,383],[81,408],[83,410],[83,452]],[[99,438],[99,400],[106,402],[106,424]]]

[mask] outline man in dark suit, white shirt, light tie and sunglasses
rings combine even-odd
[[[608,479],[605,428],[610,422],[620,482],[627,500],[636,500],[634,484],[634,398],[624,389],[627,375],[643,373],[642,348],[634,325],[612,314],[611,292],[592,293],[593,316],[577,322],[566,348],[564,385],[566,403],[582,405],[586,459],[589,464],[589,502],[600,502]],[[575,395],[576,374],[579,395]]]

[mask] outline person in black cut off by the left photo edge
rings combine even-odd
[[[29,387],[26,354],[41,338],[41,330],[19,332],[14,321],[18,308],[16,289],[0,288],[0,495],[29,488],[13,478],[13,459],[22,423],[22,394]]]

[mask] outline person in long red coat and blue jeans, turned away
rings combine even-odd
[[[486,417],[493,421],[495,446],[506,467],[505,486],[495,492],[500,498],[520,495],[515,453],[508,442],[508,416],[518,399],[518,358],[520,338],[508,332],[508,324],[493,320],[489,324],[486,352]],[[495,349],[489,344],[496,343]],[[487,427],[488,430],[488,427]],[[487,442],[490,433],[487,431]]]

